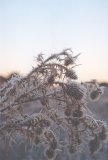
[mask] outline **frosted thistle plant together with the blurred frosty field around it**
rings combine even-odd
[[[78,56],[40,54],[0,88],[0,160],[108,160],[108,89],[77,81]]]

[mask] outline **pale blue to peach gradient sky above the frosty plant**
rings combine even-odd
[[[0,74],[65,48],[82,53],[80,80],[108,81],[108,0],[0,0]]]

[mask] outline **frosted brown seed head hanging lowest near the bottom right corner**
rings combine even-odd
[[[89,141],[89,149],[91,154],[93,154],[94,152],[96,152],[100,147],[100,143],[99,143],[99,139],[97,136],[95,136],[94,139],[91,139]]]

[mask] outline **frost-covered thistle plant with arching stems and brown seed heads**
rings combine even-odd
[[[0,88],[4,147],[9,148],[20,135],[31,147],[42,145],[46,159],[54,159],[64,149],[69,154],[78,152],[83,143],[93,154],[107,140],[107,125],[95,119],[87,107],[88,99],[97,100],[103,88],[95,80],[77,81],[74,68],[78,56],[71,49],[47,59],[39,54],[37,66],[29,74],[15,74]],[[28,102],[39,104],[39,111],[25,112]],[[65,135],[62,140],[61,131]]]

